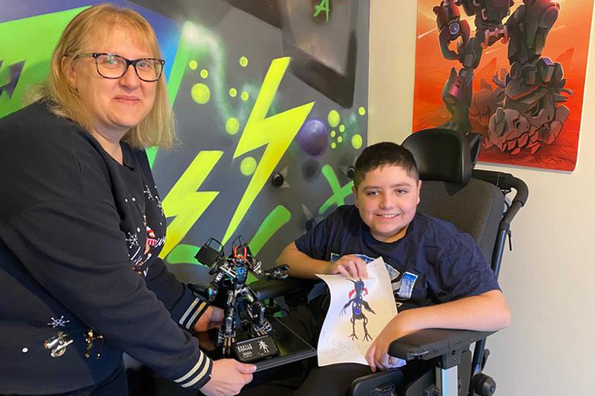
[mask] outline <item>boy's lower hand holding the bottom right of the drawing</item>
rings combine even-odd
[[[404,313],[404,312],[403,312]],[[389,355],[389,346],[397,338],[403,337],[413,330],[407,330],[403,313],[399,313],[378,334],[366,353],[366,360],[372,372],[404,366],[405,360]]]

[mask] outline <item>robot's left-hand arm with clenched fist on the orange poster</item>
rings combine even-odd
[[[446,59],[461,60],[461,49],[469,43],[471,28],[465,20],[461,20],[461,11],[458,5],[460,2],[455,0],[443,0],[440,5],[434,7],[436,14],[436,24],[439,32],[440,49],[442,56]],[[459,39],[457,52],[450,49],[450,43]]]

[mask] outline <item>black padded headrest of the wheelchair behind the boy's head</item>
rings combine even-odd
[[[402,145],[413,154],[419,178],[462,187],[471,179],[472,161],[477,157],[479,142],[476,134],[465,135],[451,129],[433,128],[409,135]]]

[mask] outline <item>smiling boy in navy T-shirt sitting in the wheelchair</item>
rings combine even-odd
[[[411,153],[392,142],[365,148],[355,164],[355,206],[337,208],[290,243],[277,259],[291,275],[366,277],[366,264],[382,256],[392,277],[399,314],[375,337],[368,366],[346,363],[312,368],[293,394],[343,395],[371,369],[397,366],[387,354],[396,338],[424,328],[499,330],[510,312],[496,276],[470,235],[416,213],[421,180]],[[390,268],[389,268],[390,267]],[[313,344],[328,309],[328,294],[287,320]]]

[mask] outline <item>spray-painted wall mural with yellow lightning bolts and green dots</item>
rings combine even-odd
[[[0,117],[43,81],[93,1],[0,2]],[[186,281],[209,237],[242,235],[271,266],[337,205],[367,140],[369,2],[114,1],[154,27],[181,144],[148,149],[168,218],[162,257]]]

